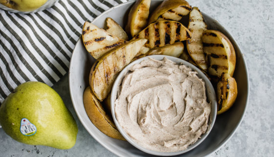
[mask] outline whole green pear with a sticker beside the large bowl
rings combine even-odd
[[[42,82],[19,85],[0,106],[0,124],[19,142],[57,149],[72,148],[78,132],[62,98]]]

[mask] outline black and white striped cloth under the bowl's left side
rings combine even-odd
[[[52,86],[67,72],[85,21],[127,0],[59,0],[32,14],[0,9],[0,103],[18,85]]]

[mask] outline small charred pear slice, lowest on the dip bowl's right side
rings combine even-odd
[[[220,81],[217,83],[217,114],[227,111],[234,104],[237,94],[236,80],[228,73],[223,73]]]

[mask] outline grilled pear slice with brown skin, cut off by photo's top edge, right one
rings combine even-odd
[[[164,0],[152,13],[149,24],[160,20],[180,21],[187,15],[191,6],[185,0]]]

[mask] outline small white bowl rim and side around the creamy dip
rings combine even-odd
[[[183,64],[189,68],[191,68],[193,71],[198,72],[197,76],[199,78],[202,78],[205,82],[205,86],[206,86],[206,99],[207,102],[211,102],[211,113],[210,113],[210,118],[208,121],[208,127],[207,127],[207,131],[205,134],[203,134],[201,136],[200,139],[198,139],[194,144],[188,146],[188,148],[186,150],[183,151],[179,151],[179,152],[157,152],[157,151],[151,151],[148,150],[144,147],[139,146],[124,130],[123,128],[120,126],[119,122],[116,119],[116,115],[115,115],[115,111],[114,111],[114,102],[117,99],[117,90],[119,89],[119,85],[121,84],[121,82],[124,79],[124,76],[129,72],[129,69],[135,65],[140,63],[141,61],[148,59],[148,58],[153,58],[153,59],[157,59],[157,60],[162,60],[164,57],[166,57],[169,60],[174,61],[177,64]],[[212,84],[210,83],[209,79],[206,77],[206,75],[199,70],[196,66],[194,66],[193,64],[180,59],[180,58],[176,58],[173,56],[168,56],[168,55],[150,55],[150,56],[146,56],[140,59],[135,60],[134,62],[130,63],[129,65],[127,65],[121,72],[120,74],[117,76],[117,78],[114,81],[113,87],[112,87],[112,93],[111,93],[111,110],[112,110],[112,116],[114,119],[114,123],[116,125],[116,127],[118,128],[118,130],[120,131],[120,133],[125,137],[125,139],[131,143],[133,146],[135,146],[136,148],[138,148],[139,150],[152,154],[152,155],[157,155],[157,156],[176,156],[179,154],[183,154],[186,153],[192,149],[194,149],[195,147],[197,147],[201,142],[203,142],[206,139],[206,136],[209,134],[209,132],[211,131],[214,122],[215,122],[215,118],[216,118],[216,114],[217,114],[217,102],[216,102],[216,95],[215,95],[215,91],[214,88],[212,86]]]

